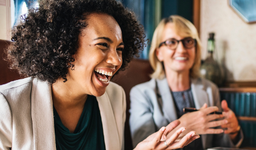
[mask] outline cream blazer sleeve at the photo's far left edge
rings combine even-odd
[[[0,93],[0,149],[10,149],[12,143],[12,118],[9,104]]]

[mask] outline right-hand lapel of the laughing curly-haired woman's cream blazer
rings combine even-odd
[[[99,103],[100,116],[102,118],[105,147],[107,150],[120,150],[121,144],[117,131],[117,124],[109,96],[105,93],[102,96],[97,97],[97,101]]]

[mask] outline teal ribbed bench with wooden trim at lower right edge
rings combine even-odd
[[[256,149],[256,88],[220,88],[220,98],[238,118],[244,135],[241,147]]]

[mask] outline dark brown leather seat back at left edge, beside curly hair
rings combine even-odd
[[[8,62],[4,61],[4,58],[6,57],[4,49],[6,49],[10,43],[11,41],[0,39],[0,85],[21,79],[21,76],[19,76],[17,71],[9,69]]]

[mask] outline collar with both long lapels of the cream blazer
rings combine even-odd
[[[104,132],[105,148],[120,150],[117,124],[107,93],[97,97]],[[31,91],[31,117],[35,149],[56,149],[51,85],[33,80]]]

